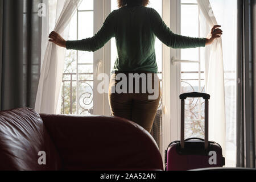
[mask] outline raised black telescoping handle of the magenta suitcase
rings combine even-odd
[[[181,126],[180,126],[180,144],[181,148],[185,147],[185,99],[187,98],[204,98],[205,100],[205,114],[204,114],[204,148],[207,150],[209,138],[208,138],[208,125],[209,125],[209,99],[210,95],[207,93],[199,93],[199,92],[192,92],[192,93],[184,93],[180,95],[181,100]]]

